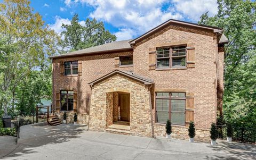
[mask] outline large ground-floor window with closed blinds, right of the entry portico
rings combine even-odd
[[[185,125],[185,92],[156,92],[156,122]]]

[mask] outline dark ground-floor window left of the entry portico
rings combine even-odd
[[[61,111],[73,111],[74,92],[61,90],[60,91],[60,106]]]

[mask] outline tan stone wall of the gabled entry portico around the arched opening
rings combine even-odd
[[[115,91],[130,93],[131,134],[135,136],[152,136],[148,87],[119,74],[113,75],[93,86],[89,130],[106,130],[107,119],[111,119],[111,114],[108,114],[108,112],[113,111],[113,106],[109,103],[109,94],[107,93]]]

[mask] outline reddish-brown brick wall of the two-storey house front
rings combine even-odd
[[[148,70],[148,50],[150,47],[155,47],[159,43],[172,43],[180,40],[195,43],[195,68],[163,71]],[[54,92],[61,88],[75,88],[78,98],[77,112],[88,113],[91,94],[89,82],[115,69],[134,71],[154,80],[155,85],[152,90],[167,88],[194,92],[195,125],[197,128],[210,128],[211,123],[216,121],[217,110],[217,86],[215,82],[218,76],[216,67],[218,61],[217,36],[207,30],[170,25],[138,42],[133,48],[133,53],[107,53],[53,60]],[[115,68],[114,57],[132,54],[133,67]],[[60,61],[75,60],[83,61],[82,75],[79,77],[60,77]],[[219,58],[219,61],[223,60]],[[219,75],[223,77],[222,72],[223,69],[219,68]],[[220,83],[223,83],[223,81],[220,81]],[[155,108],[154,94],[152,94],[152,101]]]

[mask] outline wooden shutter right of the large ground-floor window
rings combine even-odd
[[[189,127],[190,121],[194,121],[194,110],[195,110],[194,93],[187,92],[186,93],[186,127]]]

